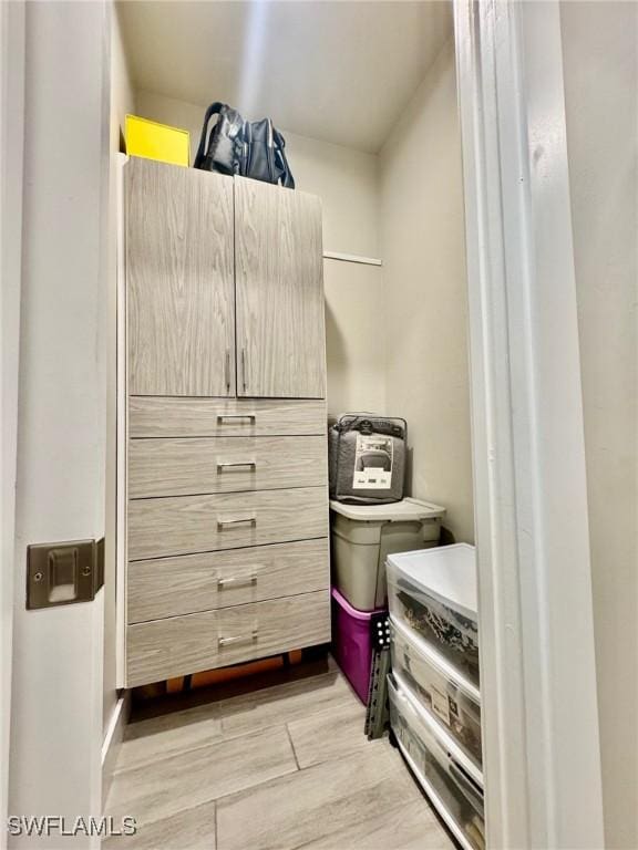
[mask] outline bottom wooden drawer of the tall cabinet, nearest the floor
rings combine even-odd
[[[328,590],[126,629],[127,687],[330,640]]]

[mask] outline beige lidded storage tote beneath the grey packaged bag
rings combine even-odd
[[[385,559],[439,545],[445,509],[419,499],[391,505],[330,501],[332,583],[359,611],[383,608]]]

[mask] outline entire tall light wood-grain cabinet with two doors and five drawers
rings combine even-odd
[[[126,685],[330,639],[321,211],[132,158]]]

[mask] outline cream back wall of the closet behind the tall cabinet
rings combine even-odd
[[[188,129],[197,148],[204,107],[135,93],[137,114]],[[326,250],[379,256],[378,157],[282,131],[298,189],[322,200]],[[379,267],[326,260],[330,413],[384,408],[383,278]]]

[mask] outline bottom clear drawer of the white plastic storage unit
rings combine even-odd
[[[388,677],[388,690],[392,732],[423,790],[465,850],[485,850],[481,771],[414,702],[395,674]]]

